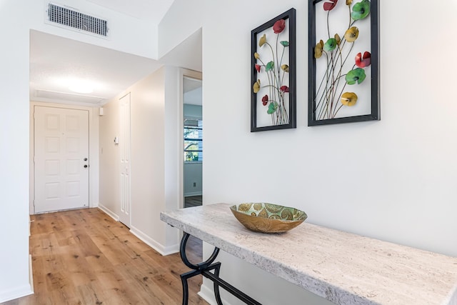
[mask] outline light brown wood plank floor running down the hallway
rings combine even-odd
[[[35,294],[4,305],[181,304],[179,254],[161,256],[99,209],[31,216],[30,251]],[[201,241],[187,244],[189,260],[201,261]],[[189,280],[189,304],[201,276]]]

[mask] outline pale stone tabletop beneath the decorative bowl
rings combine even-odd
[[[229,206],[162,212],[161,220],[335,304],[457,305],[455,257],[306,222],[256,233]]]

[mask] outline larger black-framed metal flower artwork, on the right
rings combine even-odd
[[[378,120],[378,0],[308,3],[308,126]]]

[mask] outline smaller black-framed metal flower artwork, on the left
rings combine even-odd
[[[296,11],[251,31],[251,132],[296,128]]]

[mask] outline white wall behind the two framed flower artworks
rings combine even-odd
[[[179,14],[183,2],[193,2],[195,11]],[[250,32],[291,7],[297,129],[251,133]],[[199,26],[187,23],[194,12],[204,16],[204,204],[295,206],[313,224],[457,256],[457,61],[447,55],[457,47],[449,36],[457,28],[455,1],[381,1],[381,121],[316,127],[306,126],[306,2],[176,0],[159,26],[165,44],[186,36],[189,24]],[[231,141],[242,149],[228,150],[224,143]],[[287,296],[281,304],[325,303],[232,256],[221,261],[221,275],[263,304],[275,304],[276,285]]]

